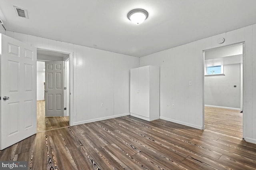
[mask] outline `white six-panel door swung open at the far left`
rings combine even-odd
[[[36,48],[0,38],[2,150],[36,134]]]

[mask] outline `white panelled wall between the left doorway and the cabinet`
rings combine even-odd
[[[10,31],[6,35],[37,48],[71,53],[71,125],[130,115],[130,69],[139,66],[138,57]]]

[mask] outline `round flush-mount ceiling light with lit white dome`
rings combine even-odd
[[[134,24],[141,24],[148,18],[148,12],[143,9],[135,9],[131,10],[127,17],[131,20]]]

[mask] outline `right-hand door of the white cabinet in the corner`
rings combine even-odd
[[[139,67],[139,115],[149,117],[149,66]]]

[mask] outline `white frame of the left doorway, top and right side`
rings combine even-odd
[[[67,91],[64,92],[64,97],[66,95],[66,97],[69,96],[69,126],[73,126],[73,101],[74,101],[74,90],[73,90],[73,82],[74,82],[74,77],[73,77],[73,72],[74,72],[74,67],[73,67],[73,63],[74,63],[74,54],[73,52],[68,52],[68,51],[57,51],[57,50],[52,50],[52,49],[47,49],[47,48],[36,48],[36,49],[40,49],[40,50],[46,50],[46,51],[52,51],[52,52],[57,52],[57,53],[65,53],[68,54],[69,57],[66,57],[64,59],[64,62],[66,62],[66,60],[69,58],[69,95],[67,94]],[[65,72],[65,71],[64,71]],[[64,106],[65,103],[64,103]]]

